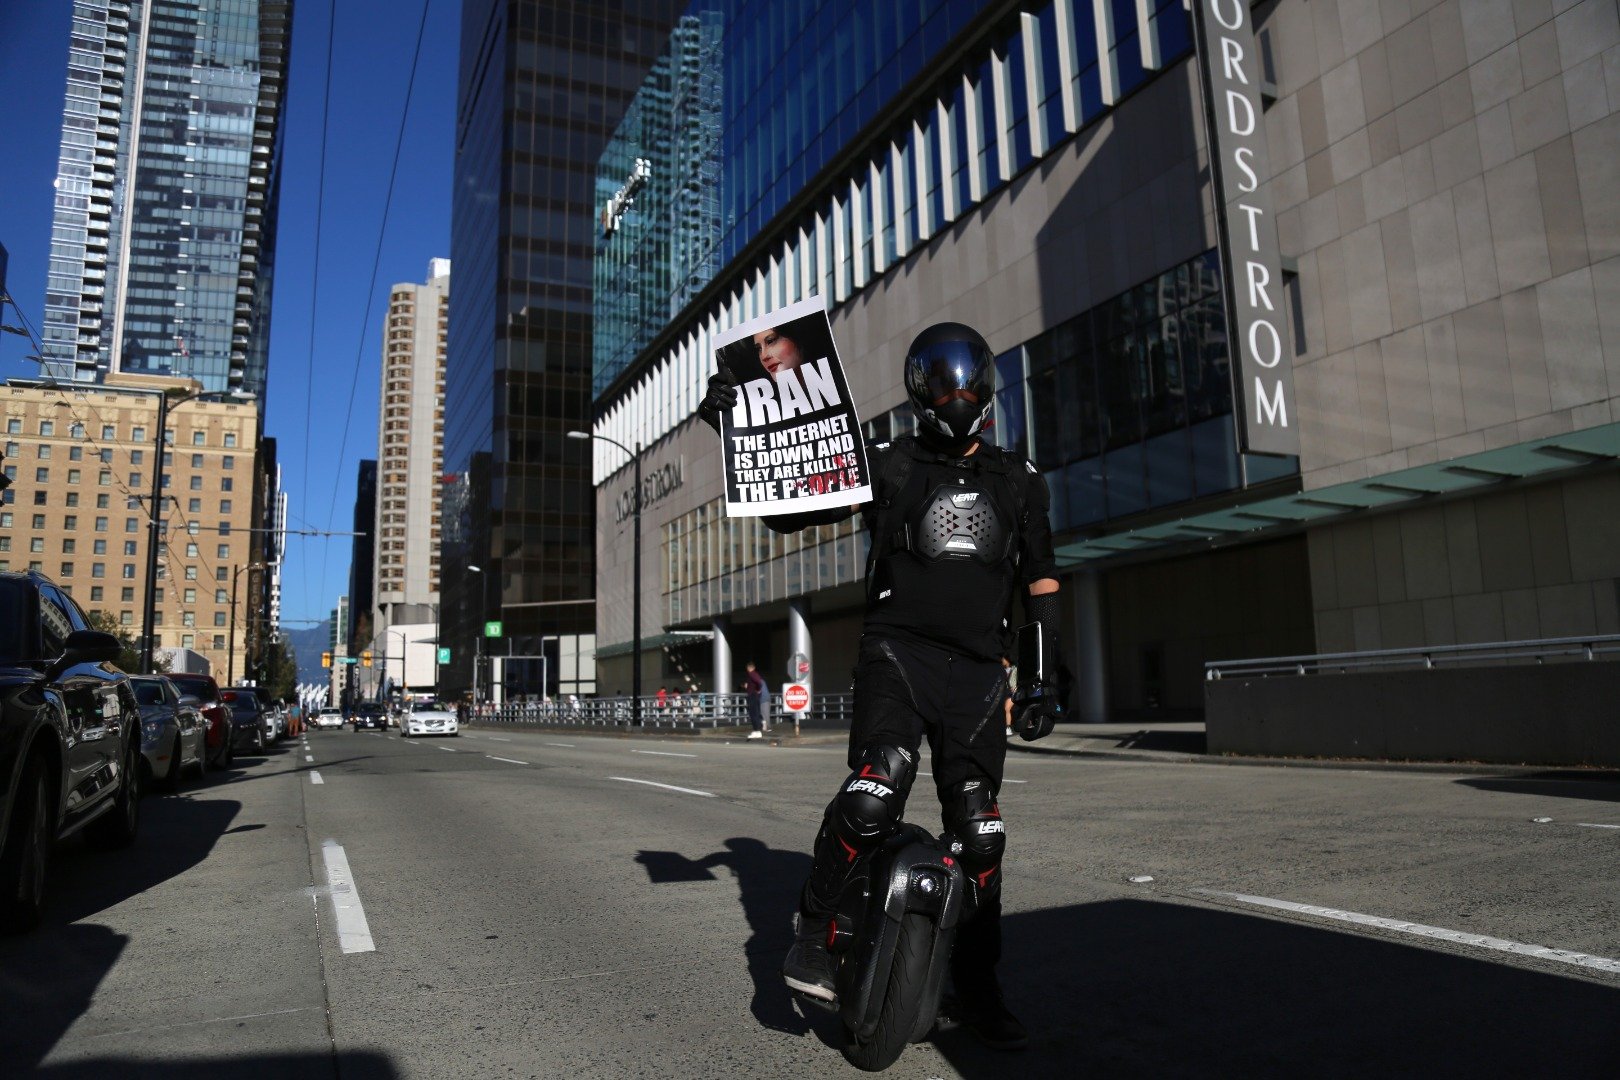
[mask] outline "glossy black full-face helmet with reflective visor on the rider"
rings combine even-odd
[[[990,423],[996,364],[978,330],[936,322],[906,353],[906,393],[917,427],[949,442],[972,439]]]

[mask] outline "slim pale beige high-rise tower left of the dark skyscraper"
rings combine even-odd
[[[437,622],[439,474],[444,468],[444,350],[450,261],[431,259],[428,282],[395,285],[382,342],[377,416],[377,520],[373,554],[374,649],[402,678],[399,646],[382,633]]]

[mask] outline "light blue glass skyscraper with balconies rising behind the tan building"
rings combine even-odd
[[[75,0],[44,371],[262,397],[292,0]]]

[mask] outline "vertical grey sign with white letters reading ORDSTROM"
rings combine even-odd
[[[1283,275],[1260,115],[1260,55],[1247,0],[1192,0],[1215,219],[1226,290],[1226,342],[1239,440],[1251,453],[1299,453],[1294,371],[1285,345]]]

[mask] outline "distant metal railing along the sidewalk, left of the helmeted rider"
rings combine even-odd
[[[849,727],[854,704],[849,693],[815,695],[799,717],[800,727],[834,729]],[[507,704],[473,706],[468,716],[475,724],[522,724],[546,727],[630,727],[635,709],[630,695],[580,698],[578,701],[514,701]],[[794,714],[781,708],[781,698],[773,695],[765,721],[773,727],[794,724]],[[747,727],[748,701],[740,693],[684,693],[667,695],[658,703],[656,695],[642,696],[642,727],[648,729],[721,729]]]

